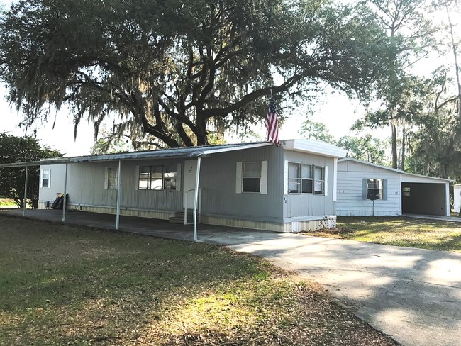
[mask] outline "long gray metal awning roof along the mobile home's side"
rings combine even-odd
[[[217,152],[235,151],[250,149],[252,147],[264,147],[266,145],[274,145],[272,142],[257,142],[257,143],[239,143],[228,145],[206,145],[201,147],[175,147],[162,150],[149,150],[141,152],[118,152],[116,154],[106,155],[88,155],[76,157],[57,157],[54,159],[43,159],[40,161],[28,162],[13,162],[0,164],[2,167],[26,167],[40,166],[40,164],[65,164],[75,162],[98,162],[98,161],[118,161],[118,160],[139,160],[150,158],[164,157],[199,157],[211,155]]]

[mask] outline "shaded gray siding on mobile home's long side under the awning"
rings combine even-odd
[[[236,162],[261,162],[267,160],[267,194],[235,193]],[[153,211],[180,211],[184,191],[138,190],[136,166],[176,165],[182,159],[122,161],[121,208]],[[46,197],[55,199],[62,192],[65,165],[51,165],[52,177],[60,177],[62,187],[49,189]],[[106,167],[118,167],[118,162],[82,162],[69,164],[67,192],[74,205],[115,207],[117,191],[104,189]],[[182,174],[184,179],[184,174]],[[52,185],[54,186],[54,185]],[[182,184],[183,186],[183,184]],[[283,201],[283,149],[259,147],[235,152],[223,152],[201,160],[200,187],[202,188],[202,214],[228,216],[255,221],[282,221]],[[51,192],[52,191],[52,192]],[[40,191],[40,198],[45,193]],[[45,199],[46,201],[46,199]]]

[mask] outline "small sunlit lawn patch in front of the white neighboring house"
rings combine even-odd
[[[338,217],[336,230],[309,235],[461,252],[461,223],[404,217]]]

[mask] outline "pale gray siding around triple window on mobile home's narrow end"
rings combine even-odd
[[[284,152],[284,160],[301,164],[313,164],[321,167],[328,166],[328,177],[326,177],[326,179],[328,179],[328,196],[316,194],[288,194],[284,196],[284,218],[334,215],[333,158],[286,150]]]

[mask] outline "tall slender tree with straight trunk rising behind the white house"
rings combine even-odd
[[[438,28],[427,18],[433,10],[426,0],[372,0],[372,8],[379,16],[382,28],[389,35],[390,45],[387,50],[387,77],[382,79],[377,95],[382,100],[382,107],[368,116],[364,125],[389,125],[391,127],[392,167],[397,168],[397,132],[405,120],[399,109],[406,107],[406,96],[402,91],[407,88],[409,67],[426,57],[437,48],[434,33]],[[405,143],[402,140],[401,143]],[[401,150],[404,157],[405,149]],[[402,161],[404,169],[404,161]]]

